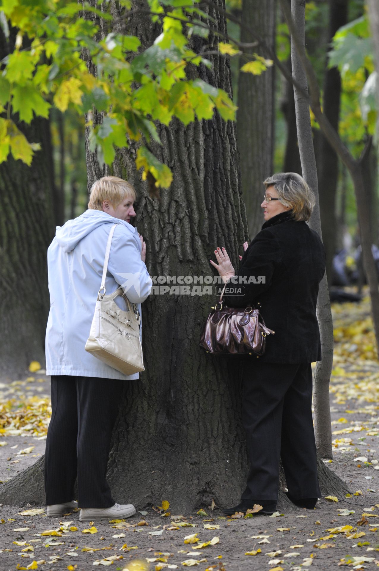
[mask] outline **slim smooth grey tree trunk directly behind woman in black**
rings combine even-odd
[[[297,27],[300,41],[305,43],[305,2],[292,0],[292,18]],[[301,65],[296,46],[291,38],[292,73],[303,90],[308,91],[307,76]],[[311,116],[309,104],[300,91],[295,93],[297,139],[304,179],[316,195],[316,206],[310,226],[321,236],[320,207],[318,204],[318,182],[315,151],[313,149]],[[313,377],[313,405],[315,407],[315,436],[317,451],[322,458],[332,458],[332,428],[330,424],[329,381],[333,366],[333,322],[326,275],[320,283],[317,299],[317,319],[320,327],[322,361],[316,365]]]

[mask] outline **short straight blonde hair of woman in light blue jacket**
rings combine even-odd
[[[109,200],[113,208],[118,207],[124,198],[136,200],[134,187],[118,176],[103,176],[92,184],[88,208],[103,210],[104,200]]]

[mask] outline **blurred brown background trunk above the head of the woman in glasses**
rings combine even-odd
[[[252,29],[259,30],[272,49],[275,49],[275,15],[276,0],[242,2],[241,21]],[[254,39],[248,30],[241,28],[241,42],[253,42]],[[241,57],[240,66],[246,61]],[[240,72],[238,78],[237,143],[251,239],[263,224],[260,208],[264,195],[263,181],[273,174],[274,79],[273,66],[261,75]]]

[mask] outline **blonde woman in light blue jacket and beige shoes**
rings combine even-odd
[[[97,180],[88,210],[57,227],[47,251],[50,313],[46,331],[46,373],[51,375],[51,421],[45,452],[47,516],[60,517],[75,506],[80,521],[125,518],[131,504],[112,499],[106,481],[111,433],[118,413],[123,375],[84,349],[102,280],[109,232],[106,290],[124,288],[140,304],[151,291],[146,244],[131,225],[135,191],[116,176]],[[117,301],[120,300],[120,301]],[[122,303],[120,297],[116,303]],[[142,327],[140,328],[142,335]],[[78,504],[72,501],[78,477]]]

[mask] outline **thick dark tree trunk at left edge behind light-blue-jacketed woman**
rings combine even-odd
[[[12,39],[10,40],[12,41]],[[0,58],[10,47],[0,33]],[[17,117],[13,117],[17,122]],[[0,373],[21,373],[30,361],[45,363],[50,300],[46,252],[54,235],[50,123],[19,123],[26,138],[41,143],[31,166],[10,155],[0,164]]]

